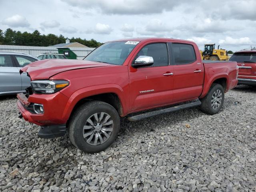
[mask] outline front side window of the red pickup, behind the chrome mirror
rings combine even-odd
[[[140,50],[137,57],[142,55],[153,57],[154,64],[151,67],[168,65],[168,51],[166,43],[148,44]]]

